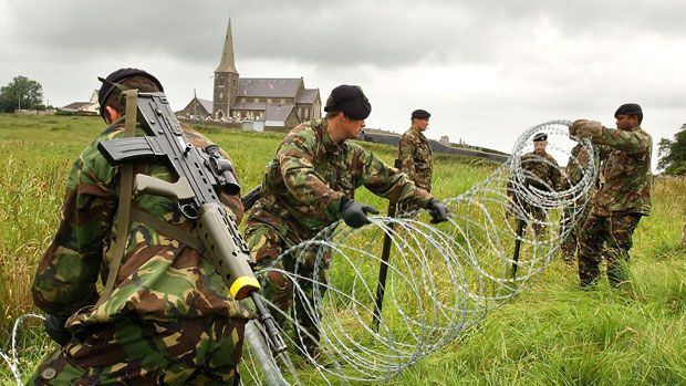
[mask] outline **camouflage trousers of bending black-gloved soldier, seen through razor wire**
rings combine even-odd
[[[331,254],[325,252],[322,259],[323,264],[316,272],[316,278],[314,278],[316,254],[305,250],[304,253],[300,253],[298,257],[285,254],[282,259],[278,259],[294,242],[287,243],[273,228],[262,223],[249,226],[246,229],[246,240],[254,262],[253,269],[258,272],[260,284],[262,285],[264,298],[282,311],[282,313],[272,312],[274,321],[283,328],[287,327],[287,315],[297,320],[304,331],[295,332],[294,341],[300,345],[300,350],[313,355],[319,346],[320,337],[316,323],[320,319],[320,312],[315,306],[319,302],[315,302],[313,281],[328,283],[326,272],[329,271]],[[297,261],[297,259],[300,261]],[[260,273],[260,270],[263,269],[273,270]],[[291,279],[274,270],[295,273],[298,275],[295,283],[300,290],[294,291]],[[323,296],[325,285],[320,285],[319,289],[320,296]]]

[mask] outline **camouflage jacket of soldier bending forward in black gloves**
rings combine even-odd
[[[425,206],[432,196],[360,145],[331,139],[325,119],[305,122],[283,139],[262,180],[248,227],[266,223],[289,243],[311,239],[341,217],[341,198],[365,186],[388,199]]]

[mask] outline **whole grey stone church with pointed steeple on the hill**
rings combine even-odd
[[[305,88],[301,77],[240,77],[233,58],[231,20],[224,51],[215,70],[212,101],[197,96],[177,116],[241,123],[257,131],[288,132],[300,123],[322,116],[319,88]]]

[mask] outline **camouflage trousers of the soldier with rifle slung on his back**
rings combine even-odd
[[[139,316],[76,330],[28,385],[239,385],[247,320]]]

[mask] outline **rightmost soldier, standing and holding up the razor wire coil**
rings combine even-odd
[[[579,240],[582,288],[596,282],[603,246],[610,284],[619,286],[628,281],[626,265],[632,234],[641,217],[651,212],[653,139],[641,128],[643,111],[630,103],[620,106],[614,116],[616,129],[585,119],[575,121],[570,127],[573,137],[588,137],[594,144],[605,145],[601,149],[602,185]]]

